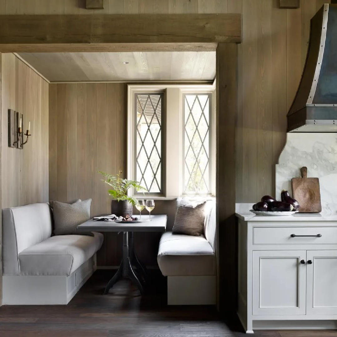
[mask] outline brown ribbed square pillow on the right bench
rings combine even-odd
[[[204,235],[204,207],[206,201],[192,203],[182,199],[178,203],[172,233],[193,236]]]

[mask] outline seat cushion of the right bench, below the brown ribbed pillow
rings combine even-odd
[[[164,276],[215,275],[214,251],[204,236],[164,233],[157,261]]]

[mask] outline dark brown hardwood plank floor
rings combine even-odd
[[[243,337],[238,321],[209,306],[167,306],[165,279],[151,273],[146,295],[129,281],[102,295],[111,271],[100,270],[67,306],[2,306],[1,337]],[[337,331],[257,331],[255,337],[336,337]]]

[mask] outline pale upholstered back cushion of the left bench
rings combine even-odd
[[[20,275],[19,254],[52,234],[49,205],[31,204],[2,210],[3,273]]]

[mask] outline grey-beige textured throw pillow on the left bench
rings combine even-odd
[[[90,219],[90,206],[91,206],[91,199],[78,201],[71,205],[54,201],[53,202],[53,217],[55,223],[54,234],[88,235],[88,233],[76,232],[76,227],[81,223]]]

